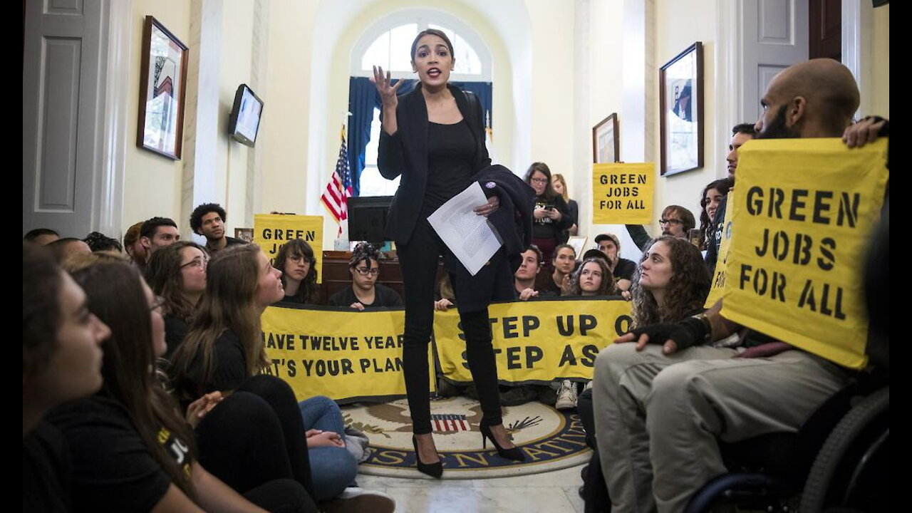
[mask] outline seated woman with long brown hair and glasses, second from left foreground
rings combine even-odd
[[[156,377],[153,362],[165,351],[161,303],[139,271],[116,257],[96,253],[70,265],[88,308],[110,327],[101,391],[49,417],[72,455],[73,509],[316,511],[292,479],[242,496],[210,474],[197,458],[191,425]]]

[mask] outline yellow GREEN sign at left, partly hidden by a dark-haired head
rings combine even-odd
[[[314,248],[316,282],[323,283],[322,215],[254,215],[254,244],[260,246],[270,262],[275,262],[280,247],[296,238],[303,238]]]

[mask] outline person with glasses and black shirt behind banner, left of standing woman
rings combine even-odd
[[[399,298],[399,294],[392,288],[377,283],[380,276],[379,257],[380,254],[374,246],[355,246],[348,261],[351,287],[343,288],[330,296],[329,306],[357,310],[401,307],[402,298]]]

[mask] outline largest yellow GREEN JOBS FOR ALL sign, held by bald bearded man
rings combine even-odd
[[[865,248],[886,140],[750,141],[741,148],[722,315],[851,368],[865,365]]]

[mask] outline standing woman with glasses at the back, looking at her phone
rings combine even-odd
[[[551,169],[544,162],[533,162],[525,173],[525,183],[535,191],[532,243],[542,250],[545,262],[551,262],[554,247],[564,242],[564,232],[573,224],[564,196],[554,192]]]

